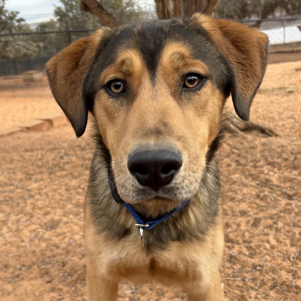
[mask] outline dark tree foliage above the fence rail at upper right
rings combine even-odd
[[[216,17],[235,20],[300,14],[300,0],[219,0],[216,9]]]

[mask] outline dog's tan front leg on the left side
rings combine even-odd
[[[116,301],[118,281],[105,276],[95,275],[93,268],[87,263],[87,289],[89,301]]]

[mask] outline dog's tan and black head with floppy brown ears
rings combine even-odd
[[[101,28],[47,70],[78,137],[88,111],[95,117],[124,201],[182,201],[199,188],[230,92],[248,119],[267,43],[257,29],[195,14]]]

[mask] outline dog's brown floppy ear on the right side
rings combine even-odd
[[[230,20],[192,16],[231,67],[231,95],[237,115],[248,120],[252,100],[265,73],[268,37],[258,29]]]

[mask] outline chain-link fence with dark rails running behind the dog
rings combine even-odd
[[[82,20],[73,20],[65,14],[54,16],[52,14],[24,16],[26,26],[22,32],[0,32],[0,44],[17,45],[20,55],[17,58],[0,60],[0,76],[21,74],[28,70],[43,70],[45,62],[58,51],[71,42],[87,36],[102,23],[91,14],[82,17]],[[156,11],[140,11],[139,14],[119,16],[121,23],[135,23],[157,19]],[[301,60],[301,16],[300,17],[274,17],[269,19],[239,20],[249,26],[257,27],[266,33],[269,38],[271,53],[295,52]],[[2,47],[2,48],[3,48]],[[9,47],[9,46],[7,46]],[[32,55],[22,50],[32,47]],[[28,50],[28,49],[27,49]],[[29,49],[30,50],[30,49]]]

